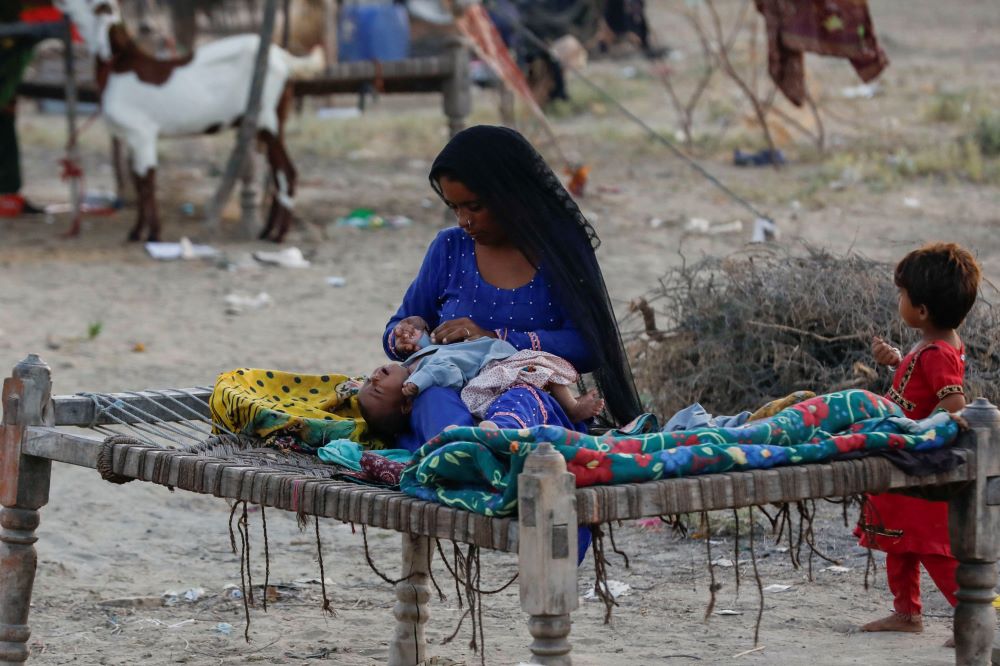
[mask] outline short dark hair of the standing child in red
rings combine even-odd
[[[980,269],[955,243],[928,243],[896,265],[896,286],[914,306],[925,306],[938,328],[958,328],[976,302]]]

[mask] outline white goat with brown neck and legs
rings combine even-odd
[[[116,0],[55,0],[97,58],[101,111],[111,133],[131,150],[139,215],[130,240],[158,240],[156,141],[163,136],[213,133],[238,125],[246,110],[260,39],[238,35],[199,48],[192,56],[157,60],[144,53],[122,24]],[[275,196],[261,238],[280,242],[291,225],[296,173],[285,150],[282,125],[291,101],[289,76],[323,68],[321,52],[296,58],[271,46],[257,120],[267,148]]]

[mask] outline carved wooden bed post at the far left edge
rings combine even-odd
[[[3,384],[0,426],[0,664],[28,659],[28,609],[38,555],[38,509],[49,500],[46,458],[21,455],[28,425],[52,425],[49,366],[30,354]]]

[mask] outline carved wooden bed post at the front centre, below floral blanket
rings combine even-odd
[[[548,442],[528,455],[518,477],[518,583],[528,613],[532,663],[570,666],[570,613],[576,588],[576,478]]]

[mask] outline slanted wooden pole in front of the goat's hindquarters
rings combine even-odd
[[[239,132],[236,135],[236,145],[229,156],[226,170],[222,174],[215,196],[206,211],[205,224],[209,231],[219,230],[219,214],[233,193],[236,179],[244,173],[244,164],[250,147],[257,135],[257,117],[260,114],[260,100],[264,92],[264,79],[267,76],[267,58],[271,49],[271,39],[274,37],[275,15],[278,10],[278,0],[266,0],[264,3],[264,21],[260,26],[260,44],[257,47],[257,60],[254,63],[253,79],[250,82],[250,96],[247,99],[247,111],[243,115]]]

